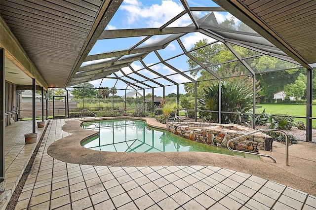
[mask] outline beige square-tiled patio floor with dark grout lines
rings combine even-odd
[[[62,131],[66,120],[50,120],[16,210],[316,210],[313,195],[216,166],[107,167],[59,161],[46,150],[54,141],[70,135]],[[19,142],[24,141],[23,135],[31,126],[23,121],[6,128],[8,197],[16,185],[13,180],[18,180],[24,170],[17,167],[25,168],[27,156],[36,146]],[[14,175],[16,178],[12,178]],[[3,202],[1,210],[7,203]]]

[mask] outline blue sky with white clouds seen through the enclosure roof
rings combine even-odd
[[[211,0],[188,0],[189,6],[199,7],[199,6],[218,6]],[[133,29],[133,28],[158,28],[161,27],[163,24],[168,22],[170,19],[178,15],[180,12],[184,10],[180,0],[124,0],[121,6],[118,8],[118,11],[108,24],[106,30],[113,30],[113,29]],[[195,16],[204,16],[209,12],[194,12]],[[218,22],[222,22],[227,18],[230,18],[232,15],[227,12],[215,12],[215,16]],[[188,15],[184,15],[183,17],[179,18],[177,21],[169,25],[169,27],[179,27],[179,26],[188,26],[191,24],[192,21]],[[189,35],[185,35],[181,37],[181,41],[183,42],[184,46],[187,50],[192,48],[194,44],[205,38],[207,36],[202,35],[200,33],[192,33]],[[143,37],[131,37],[131,38],[119,38],[119,39],[105,39],[105,40],[98,40],[92,50],[90,51],[89,55],[92,54],[100,54],[109,51],[117,51],[122,49],[128,49],[137,42],[139,42]],[[161,37],[153,36],[149,40],[146,41],[146,44],[150,42],[156,41],[158,38]],[[209,41],[213,41],[210,37],[207,37]],[[177,41],[171,42],[165,49],[158,50],[158,53],[163,59],[172,57],[174,55],[178,55],[183,53]],[[178,70],[188,70],[188,64],[186,61],[188,57],[181,56],[177,59],[173,59],[170,61],[171,65],[174,65]],[[145,59],[144,62],[147,66],[155,64],[158,62],[157,56],[152,53],[149,54]],[[87,62],[83,65],[87,65]],[[142,69],[143,66],[140,62],[134,62],[132,65],[134,70]],[[152,67],[152,69],[159,70],[161,74],[170,74],[174,72],[173,70],[167,68],[164,65],[156,65]],[[123,69],[125,73],[131,72],[129,68]],[[155,77],[153,73],[148,70],[142,70],[141,72],[143,75],[151,78]],[[118,73],[118,76],[122,75]],[[188,73],[189,75],[189,73]],[[179,75],[171,75],[168,76],[169,79],[177,82],[188,82],[188,79],[182,78]],[[157,81],[161,81],[157,79]],[[91,81],[95,87],[99,87],[101,80]],[[116,80],[111,81],[111,79],[103,79],[101,86],[113,87],[115,85]],[[170,83],[170,82],[169,82]],[[166,85],[165,83],[164,85]],[[116,88],[126,88],[126,84],[121,81],[116,83]],[[142,91],[141,91],[142,92]],[[184,86],[179,86],[179,92],[185,93]],[[152,93],[151,89],[147,89],[146,93]],[[176,93],[176,86],[169,86],[165,88],[165,94],[168,95],[169,93]],[[125,91],[118,91],[117,95],[122,96],[125,94]],[[155,88],[155,95],[162,96],[162,88]]]

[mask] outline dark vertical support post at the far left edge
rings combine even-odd
[[[5,129],[5,77],[4,77],[4,49],[0,48],[0,177],[4,178],[4,129]]]

